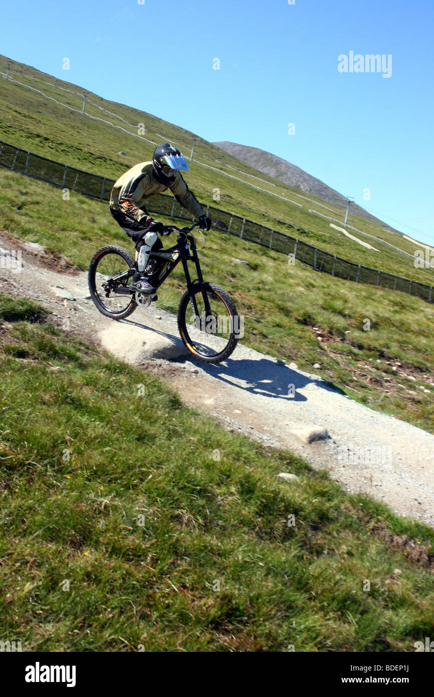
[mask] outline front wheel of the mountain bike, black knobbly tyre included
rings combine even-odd
[[[185,291],[178,307],[178,329],[188,350],[206,363],[219,363],[231,355],[240,338],[240,318],[231,296],[213,283]]]

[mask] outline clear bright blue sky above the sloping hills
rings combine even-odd
[[[270,151],[433,243],[433,20],[433,0],[22,0],[3,4],[0,51]],[[392,55],[392,75],[339,72],[350,51]]]

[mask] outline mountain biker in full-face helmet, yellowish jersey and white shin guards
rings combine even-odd
[[[155,266],[155,262],[149,262],[149,254],[151,249],[162,247],[157,232],[162,232],[164,225],[150,217],[145,206],[146,199],[170,188],[178,203],[199,218],[202,229],[209,230],[211,227],[210,218],[180,174],[180,170],[188,169],[180,151],[169,143],[163,143],[155,148],[152,161],[135,164],[118,178],[111,190],[110,213],[136,244],[137,273],[132,277],[132,286],[147,295],[152,296],[156,292],[148,281],[148,274]]]

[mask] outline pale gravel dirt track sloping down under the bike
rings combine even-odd
[[[185,404],[212,413],[224,427],[268,445],[288,447],[326,468],[348,491],[366,492],[394,511],[434,527],[434,436],[372,411],[241,344],[217,366],[192,362],[176,318],[153,305],[114,322],[89,299],[87,274],[61,268],[49,255],[0,233],[0,248],[22,250],[22,268],[0,268],[0,291],[38,300],[70,332],[142,365],[178,390]],[[3,260],[6,259],[2,254]],[[1,258],[1,257],[0,257]],[[4,263],[3,265],[4,266]],[[74,300],[55,295],[61,286]],[[62,291],[57,291],[62,293]],[[295,395],[288,395],[294,385]],[[297,431],[326,428],[330,438],[306,444]]]

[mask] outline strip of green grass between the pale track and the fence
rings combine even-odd
[[[0,185],[2,227],[77,268],[88,268],[94,252],[109,243],[132,251],[107,205],[74,193],[63,201],[61,190],[6,170]],[[245,316],[244,344],[295,361],[353,399],[434,432],[434,305],[316,273],[299,262],[288,266],[284,254],[223,232],[206,233],[200,257],[204,277],[230,291]],[[176,312],[184,289],[179,267],[160,289],[158,304]],[[320,369],[313,370],[315,363]]]

